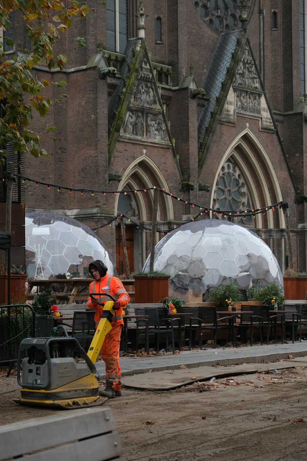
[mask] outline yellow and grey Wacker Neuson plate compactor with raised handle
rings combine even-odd
[[[63,337],[26,338],[20,343],[17,382],[22,389],[21,399],[15,402],[70,410],[107,401],[107,397],[99,396],[94,363],[104,338],[112,329],[116,299],[106,293],[90,294],[92,299],[95,295],[109,296],[112,301],[98,302],[103,306],[103,313],[87,353],[76,338],[68,336],[64,325],[56,327],[56,331],[63,329]]]

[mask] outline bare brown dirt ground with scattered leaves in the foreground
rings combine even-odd
[[[292,368],[171,391],[125,389],[105,405],[127,461],[306,460],[306,378],[307,368]],[[0,386],[0,425],[60,412],[18,406],[3,373]]]

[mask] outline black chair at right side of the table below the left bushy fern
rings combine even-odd
[[[240,334],[241,343],[247,341],[247,331],[249,330],[249,344],[253,345],[253,328],[259,328],[260,343],[262,345],[262,329],[261,329],[261,305],[241,305],[241,311],[247,313],[237,312],[240,323],[237,323],[238,333]]]

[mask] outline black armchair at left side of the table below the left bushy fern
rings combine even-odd
[[[199,319],[201,321],[202,330],[214,331],[214,348],[216,348],[217,332],[220,330],[228,330],[228,340],[231,338],[232,345],[234,346],[234,326],[233,315],[218,318],[216,307],[199,307]],[[223,320],[226,320],[225,323]],[[196,321],[196,319],[193,319]]]

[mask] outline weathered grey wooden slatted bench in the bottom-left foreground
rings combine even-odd
[[[107,407],[59,411],[55,416],[0,426],[0,460],[125,461],[115,429]]]

